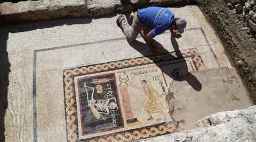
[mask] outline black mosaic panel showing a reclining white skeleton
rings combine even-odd
[[[115,74],[76,79],[79,135],[123,128]]]

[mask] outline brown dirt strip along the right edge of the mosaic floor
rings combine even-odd
[[[227,55],[256,103],[256,40],[251,31],[244,30],[247,26],[243,14],[230,10],[223,0],[208,1],[199,7],[218,32]]]

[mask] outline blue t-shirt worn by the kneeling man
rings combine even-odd
[[[154,6],[138,10],[138,16],[142,24],[154,27],[149,32],[153,38],[168,30],[174,19],[174,14],[167,8]]]

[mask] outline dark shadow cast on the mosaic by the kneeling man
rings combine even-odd
[[[159,54],[161,54],[162,59],[156,59],[155,56],[153,56],[153,53],[151,52],[149,46],[147,43],[142,43],[140,41],[134,41],[133,43],[130,43],[130,46],[132,46],[135,50],[139,51],[141,55],[147,56],[149,59],[153,60],[154,63],[162,69],[162,72],[170,76],[174,81],[187,81],[187,83],[194,88],[196,91],[202,90],[202,84],[198,81],[198,79],[188,71],[188,66],[186,63],[185,58],[181,55],[181,51],[179,49],[179,45],[174,38],[174,35],[171,34],[171,43],[174,47],[174,52],[177,57],[173,57],[172,52],[169,52],[166,50],[159,42],[154,40],[154,46],[157,48]],[[163,68],[163,64],[161,64],[165,60],[170,60],[170,57],[173,57],[173,60],[177,60],[178,63],[175,65],[172,65],[171,67]],[[173,63],[174,64],[174,63]],[[167,84],[168,85],[168,84]]]

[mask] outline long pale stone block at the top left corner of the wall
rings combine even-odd
[[[57,17],[88,16],[87,1],[42,0],[1,4],[0,24],[48,20]]]

